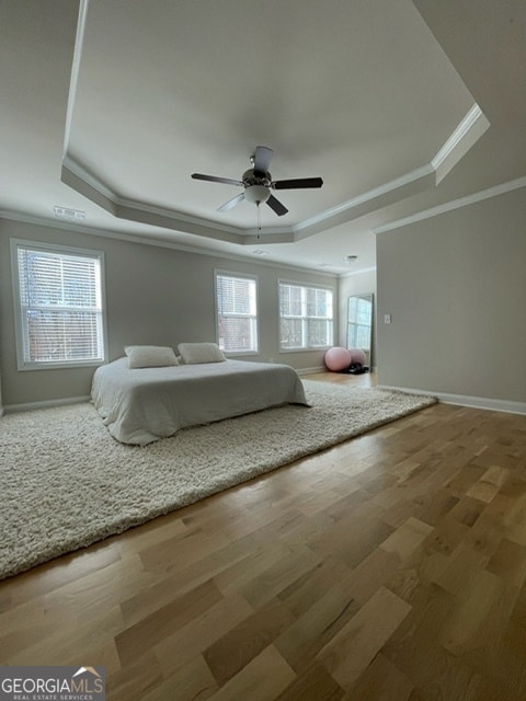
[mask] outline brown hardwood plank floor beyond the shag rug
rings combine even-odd
[[[0,583],[0,662],[116,701],[525,699],[525,462],[526,416],[436,404]]]

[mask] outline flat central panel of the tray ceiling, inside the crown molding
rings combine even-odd
[[[254,226],[258,145],[294,226],[428,163],[472,97],[409,0],[127,0],[88,5],[68,156],[116,196]]]

